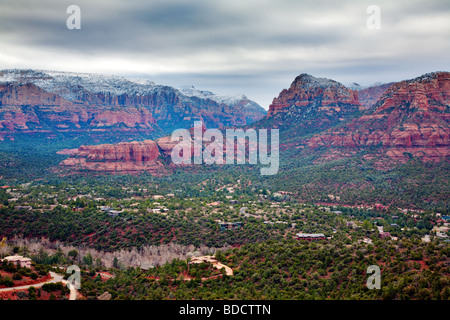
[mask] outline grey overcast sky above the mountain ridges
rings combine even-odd
[[[369,85],[448,71],[449,21],[448,0],[0,0],[0,69],[149,78],[267,109],[300,73]]]

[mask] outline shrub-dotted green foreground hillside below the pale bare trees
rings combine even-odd
[[[109,292],[120,300],[447,300],[449,253],[448,245],[425,244],[419,238],[372,244],[266,240],[216,253],[233,269],[233,276],[208,264],[194,266],[189,259],[175,259],[148,271],[112,269],[114,277],[102,280],[87,264],[81,294],[96,299]],[[381,269],[380,289],[367,287],[371,265]]]

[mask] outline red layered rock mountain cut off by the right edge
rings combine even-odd
[[[374,112],[311,138],[310,148],[382,147],[396,160],[450,156],[450,73],[437,72],[391,86]]]

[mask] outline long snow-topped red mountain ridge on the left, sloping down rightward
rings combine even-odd
[[[250,124],[265,110],[245,96],[189,95],[148,80],[71,72],[0,71],[0,139],[44,136],[83,142],[157,138],[202,120]]]

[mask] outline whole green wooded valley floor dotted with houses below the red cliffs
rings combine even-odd
[[[316,163],[311,156],[300,166],[282,159],[276,176],[247,165],[162,177],[60,175],[52,168],[63,156],[24,152],[0,154],[0,237],[8,248],[20,239],[47,247],[0,253],[48,268],[79,265],[86,299],[104,292],[112,299],[450,298],[450,234],[436,236],[450,212],[447,163],[411,160],[380,170],[358,157]],[[389,236],[381,238],[380,228]],[[325,239],[299,241],[299,232]],[[143,252],[157,262],[125,259]],[[233,276],[189,264],[200,252],[214,253]],[[379,290],[366,285],[371,265],[381,269]],[[44,296],[54,289],[52,297],[64,299],[65,289],[46,289]]]

